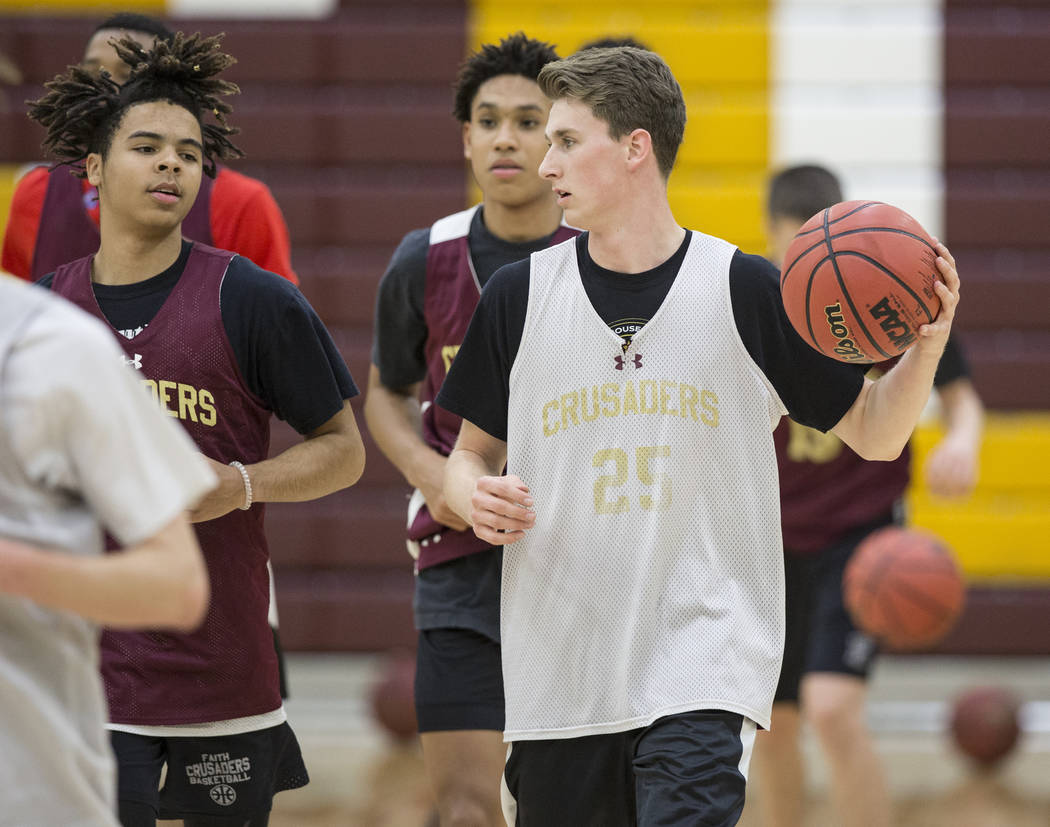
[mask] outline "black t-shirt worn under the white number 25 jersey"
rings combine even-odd
[[[598,267],[587,250],[588,234],[576,238],[587,296],[598,316],[618,328],[625,340],[659,309],[681,267],[690,235],[687,232],[681,247],[663,264],[636,274]],[[805,343],[784,313],[776,268],[761,256],[736,251],[729,278],[740,338],[791,416],[820,430],[834,427],[856,401],[864,368],[828,359]],[[507,438],[510,367],[525,327],[528,289],[528,261],[492,276],[437,399],[437,404],[500,440]]]

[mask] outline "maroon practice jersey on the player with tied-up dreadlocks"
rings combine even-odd
[[[270,410],[245,384],[223,326],[219,288],[233,253],[194,243],[160,312],[133,339],[113,332],[161,407],[201,451],[222,463],[267,458]],[[106,321],[91,288],[91,256],[60,267],[51,289]],[[138,725],[223,721],[280,706],[267,622],[264,507],[195,526],[211,605],[189,634],[105,631],[102,675],[110,721]]]

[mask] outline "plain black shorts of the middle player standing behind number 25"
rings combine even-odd
[[[500,644],[470,629],[426,629],[416,651],[420,733],[503,731]]]

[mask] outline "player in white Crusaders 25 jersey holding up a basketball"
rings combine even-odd
[[[540,173],[588,232],[486,285],[438,404],[453,509],[504,544],[505,809],[517,825],[732,825],[783,646],[772,431],[896,458],[959,297],[879,382],[810,347],[776,271],[681,228],[681,90],[656,55],[540,73]],[[506,473],[504,464],[506,463]]]

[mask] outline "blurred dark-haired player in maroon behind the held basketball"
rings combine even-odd
[[[778,268],[811,216],[843,200],[836,176],[818,166],[791,167],[770,182],[770,259]],[[876,365],[888,370],[892,361]],[[952,338],[934,387],[946,427],[925,480],[941,496],[963,496],[976,482],[983,406]],[[888,463],[858,457],[834,433],[784,419],[774,432],[784,535],[786,638],[773,705],[773,728],[755,744],[764,827],[800,827],[805,779],[799,727],[814,730],[826,759],[836,824],[891,823],[885,775],[865,720],[866,679],[876,641],[857,629],[842,599],[842,572],[873,531],[903,519],[909,451]]]

